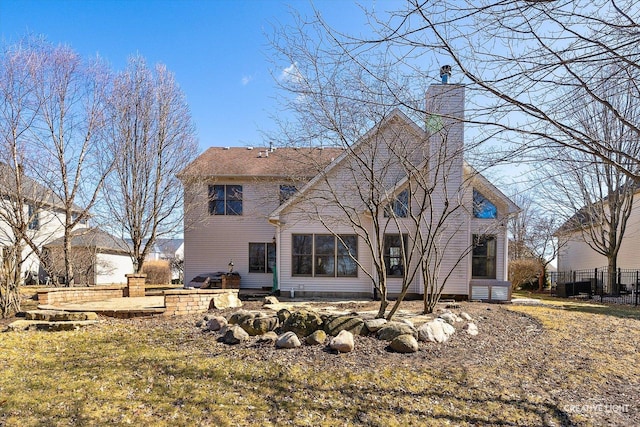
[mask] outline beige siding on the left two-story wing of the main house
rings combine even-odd
[[[242,185],[243,214],[209,215],[208,185],[199,183],[195,190],[197,209],[187,209],[185,223],[184,260],[185,284],[198,274],[227,271],[233,260],[234,271],[240,274],[242,288],[271,286],[271,273],[249,273],[249,243],[271,243],[276,230],[268,222],[268,214],[279,203],[280,182],[216,180],[211,184]]]

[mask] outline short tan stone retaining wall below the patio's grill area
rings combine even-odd
[[[227,307],[241,305],[238,290],[234,289],[178,289],[164,291],[163,294],[165,316],[203,313],[218,302]]]

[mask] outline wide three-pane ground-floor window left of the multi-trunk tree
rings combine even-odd
[[[294,276],[356,277],[358,238],[355,235],[294,234]]]

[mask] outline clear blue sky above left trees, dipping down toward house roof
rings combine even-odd
[[[365,20],[355,2],[313,4],[340,29]],[[0,0],[0,37],[41,34],[116,70],[136,53],[164,63],[186,93],[201,150],[261,145],[260,130],[274,128],[272,73],[280,71],[271,69],[265,33],[291,22],[291,9],[312,12],[301,0]]]

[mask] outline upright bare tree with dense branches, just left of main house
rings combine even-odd
[[[131,240],[136,271],[156,239],[182,226],[177,174],[195,157],[197,140],[185,96],[164,65],[132,57],[109,100],[109,153],[115,159],[104,196],[112,228]]]

